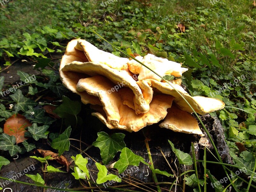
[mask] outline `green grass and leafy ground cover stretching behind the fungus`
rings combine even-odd
[[[106,7],[102,7],[101,2],[19,0],[6,3],[0,9],[0,57],[4,61],[0,68],[11,65],[15,60],[12,56],[28,56],[32,61],[43,54],[50,58],[47,50],[51,51],[56,45],[51,42],[78,37],[105,51],[114,51],[89,27],[124,51],[135,52],[133,41],[139,43],[142,54],[146,54],[151,44],[160,52],[167,52],[169,59],[192,68],[192,76],[183,79],[192,96],[215,97],[232,107],[211,115],[220,118],[236,165],[254,166],[256,8],[252,1],[220,0],[212,5],[205,0],[118,0]],[[179,23],[185,25],[185,33],[180,33]],[[56,49],[60,48],[55,48],[55,52],[61,52]],[[193,67],[189,59],[201,68]],[[241,76],[245,78],[236,84]],[[215,94],[228,83],[232,85],[227,90]],[[243,143],[253,158],[246,159],[236,142]],[[255,180],[247,181],[255,184]],[[246,184],[242,188],[247,188]]]

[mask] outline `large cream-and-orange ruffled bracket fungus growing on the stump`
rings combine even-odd
[[[181,77],[187,68],[180,63],[147,54],[137,56],[159,75]],[[203,136],[192,110],[180,94],[204,115],[224,108],[218,99],[192,97],[181,86],[181,79],[170,81],[172,86],[135,60],[120,58],[99,50],[89,42],[76,39],[68,43],[60,62],[62,83],[91,104],[92,113],[110,129],[129,132],[158,123],[175,132]]]

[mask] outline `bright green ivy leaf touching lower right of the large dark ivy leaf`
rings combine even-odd
[[[122,173],[128,165],[139,166],[141,161],[144,161],[143,157],[135,155],[131,149],[125,147],[122,149],[120,158],[115,163],[114,168],[118,169],[118,173]]]

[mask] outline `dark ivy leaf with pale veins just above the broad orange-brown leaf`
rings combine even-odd
[[[10,95],[10,97],[16,102],[14,106],[15,112],[20,110],[25,112],[28,110],[29,105],[35,106],[37,104],[35,101],[24,97],[19,89],[13,95]]]

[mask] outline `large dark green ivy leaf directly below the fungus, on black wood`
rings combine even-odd
[[[108,164],[117,151],[121,151],[126,145],[123,133],[114,133],[109,136],[105,132],[98,132],[98,138],[92,143],[93,146],[100,148],[100,156],[103,164]]]

